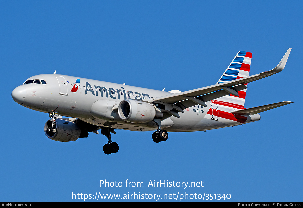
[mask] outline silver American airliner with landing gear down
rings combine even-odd
[[[68,142],[88,132],[106,136],[105,154],[117,153],[115,129],[154,131],[159,143],[168,132],[192,132],[238,126],[260,120],[260,112],[290,104],[277,102],[244,108],[247,84],[282,71],[290,54],[266,72],[249,76],[251,52],[239,51],[217,84],[185,92],[169,92],[68,75],[41,74],[12,91],[20,105],[49,114],[44,126],[49,139]],[[62,117],[65,116],[65,117]]]

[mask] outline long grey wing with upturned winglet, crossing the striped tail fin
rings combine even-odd
[[[247,76],[240,79],[235,79],[228,82],[222,82],[208,87],[156,97],[153,99],[152,102],[164,104],[165,110],[168,110],[168,113],[171,113],[171,115],[173,116],[179,117],[176,112],[174,113],[171,110],[175,109],[178,112],[183,112],[185,108],[189,108],[197,104],[206,107],[205,102],[225,95],[232,94],[234,96],[239,96],[238,91],[247,88],[245,84],[281,72],[285,67],[290,51],[291,48],[287,50],[287,52],[285,53],[279,64],[274,69],[271,69],[269,71]]]

